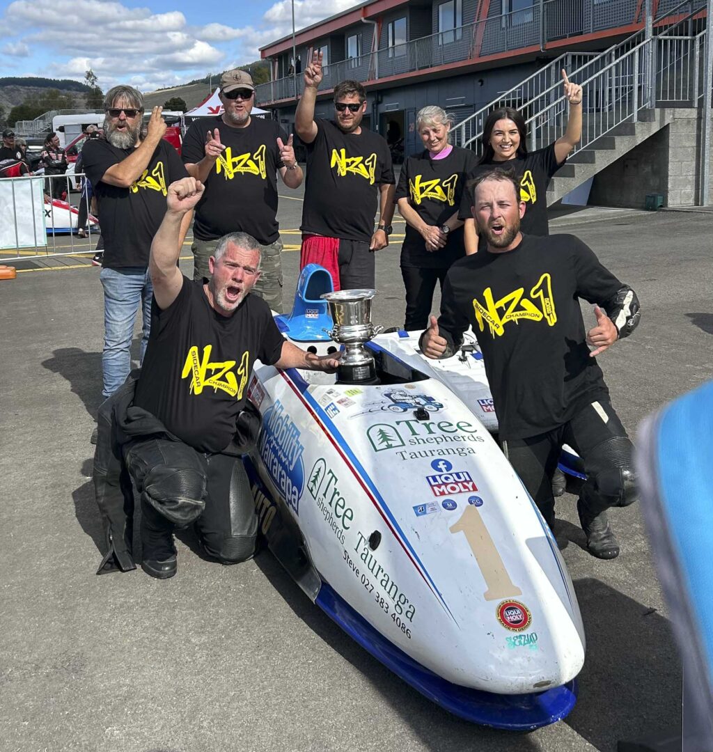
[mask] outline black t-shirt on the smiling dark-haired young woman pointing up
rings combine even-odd
[[[524,158],[518,156],[505,162],[481,162],[470,174],[468,184],[470,186],[476,177],[496,167],[512,170],[520,180],[520,200],[525,202],[525,216],[520,220],[520,229],[527,235],[549,235],[547,186],[563,164],[557,164],[554,144],[550,144],[544,149],[530,152]],[[472,219],[472,206],[472,190],[466,190],[458,217],[461,220]]]

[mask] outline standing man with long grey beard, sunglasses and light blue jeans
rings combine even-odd
[[[105,138],[87,139],[83,169],[92,183],[102,218],[104,259],[99,279],[104,287],[102,394],[110,397],[126,381],[136,313],[141,308],[141,356],[148,344],[153,287],[148,271],[153,235],[166,211],[168,186],[188,173],[163,135],[162,108],[151,112],[142,132],[144,96],[132,86],[114,86],[104,101]],[[184,217],[181,242],[190,215]],[[93,437],[94,440],[94,437]]]

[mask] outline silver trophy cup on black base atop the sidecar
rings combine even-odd
[[[337,380],[344,384],[363,383],[376,378],[374,356],[364,344],[381,332],[372,324],[372,298],[376,290],[339,290],[321,296],[329,305],[334,328],[329,336],[344,345]]]

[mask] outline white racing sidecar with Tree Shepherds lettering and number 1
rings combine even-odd
[[[576,701],[584,627],[557,544],[491,435],[477,342],[426,359],[415,333],[347,321],[352,292],[309,265],[292,313],[276,316],[314,353],[344,344],[337,374],[253,372],[261,532],[329,617],[433,702],[500,729],[554,723]]]

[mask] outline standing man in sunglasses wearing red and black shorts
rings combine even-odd
[[[334,87],[335,120],[314,120],[322,78],[322,53],[315,52],[295,114],[295,130],[307,144],[299,265],[329,269],[335,290],[375,287],[374,252],[389,244],[395,206],[391,153],[385,138],[361,126],[366,91],[357,81]]]

